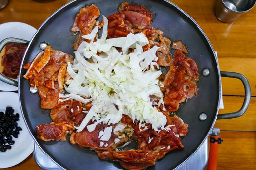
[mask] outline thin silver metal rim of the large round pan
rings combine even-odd
[[[48,18],[40,25],[40,27],[39,27],[39,29],[37,30],[37,32],[36,32],[36,33],[33,35],[33,37],[31,38],[31,41],[29,42],[29,44],[28,44],[28,46],[27,46],[27,49],[26,49],[26,51],[25,51],[24,56],[26,56],[27,51],[28,51],[29,47],[31,46],[32,41],[34,40],[35,36],[36,36],[36,35],[38,34],[38,32],[42,29],[42,27],[48,22],[48,20],[51,19],[52,17],[54,17],[57,13],[59,13],[60,10],[62,10],[63,8],[69,6],[70,4],[72,4],[72,3],[76,2],[76,1],[78,1],[78,0],[72,0],[72,1],[70,1],[70,2],[68,2],[68,3],[66,3],[65,5],[63,5],[62,7],[60,7],[57,11],[55,11],[52,15],[50,15],[50,17],[48,17]],[[219,82],[219,85],[218,85],[219,94],[218,94],[218,102],[217,102],[217,107],[216,107],[215,118],[214,118],[214,120],[213,120],[213,122],[212,122],[211,128],[209,129],[207,135],[206,135],[205,138],[202,140],[202,142],[199,144],[199,146],[197,146],[197,149],[196,149],[193,153],[191,153],[189,156],[187,156],[187,158],[185,158],[184,161],[183,161],[182,163],[180,163],[176,168],[174,168],[174,169],[178,169],[178,168],[179,168],[180,166],[182,166],[194,153],[197,152],[197,150],[202,146],[202,144],[203,144],[204,141],[208,138],[210,132],[212,131],[213,126],[214,126],[214,124],[215,124],[215,122],[216,122],[216,119],[217,119],[217,115],[218,115],[217,113],[218,113],[218,110],[219,110],[219,103],[220,103],[220,97],[221,97],[221,96],[220,96],[220,90],[221,90],[222,85],[221,85],[221,76],[220,76],[219,66],[218,66],[218,64],[217,64],[217,63],[218,63],[217,56],[216,56],[216,54],[215,54],[215,51],[214,51],[214,49],[213,49],[213,46],[212,46],[211,42],[209,41],[209,39],[208,39],[208,37],[206,36],[206,34],[203,32],[203,30],[201,29],[201,27],[197,24],[197,22],[196,22],[192,17],[190,17],[185,11],[183,11],[183,10],[182,10],[181,8],[179,8],[177,5],[175,5],[174,3],[172,3],[172,2],[170,2],[170,1],[168,1],[168,0],[162,0],[162,1],[167,2],[167,3],[169,3],[170,5],[172,5],[172,6],[173,6],[174,8],[176,8],[180,13],[182,13],[183,15],[185,15],[185,17],[187,17],[190,21],[193,22],[193,24],[196,26],[196,28],[199,30],[199,32],[203,35],[204,39],[207,41],[207,43],[208,43],[207,46],[210,47],[210,49],[211,49],[211,53],[213,54],[214,59],[215,59],[215,60],[213,60],[213,61],[215,61],[214,64],[215,64],[215,66],[216,66],[216,68],[217,68],[217,70],[218,70],[218,74],[217,74],[217,75],[218,75],[218,82]],[[23,57],[20,66],[23,66],[24,60],[25,60],[25,57]],[[45,153],[45,154],[47,155],[48,158],[50,158],[54,163],[56,163],[56,164],[57,164],[59,167],[61,167],[62,169],[67,170],[67,169],[64,168],[62,165],[60,165],[59,163],[57,163],[51,156],[49,156],[49,155],[42,149],[42,147],[39,145],[39,143],[38,143],[36,137],[32,134],[32,132],[31,132],[31,130],[30,130],[30,128],[29,128],[29,125],[28,125],[28,123],[27,123],[27,121],[26,121],[26,119],[25,119],[24,113],[23,113],[23,109],[22,109],[22,105],[21,105],[21,98],[20,98],[20,81],[21,81],[21,78],[23,78],[23,76],[21,76],[21,71],[22,71],[22,68],[21,68],[20,71],[19,71],[18,94],[19,94],[19,101],[20,101],[20,108],[21,108],[22,117],[23,117],[23,119],[25,120],[25,124],[26,124],[27,128],[29,129],[29,133],[30,133],[30,135],[33,137],[33,139],[34,139],[35,143],[37,144],[37,146],[41,149],[41,151],[42,151],[43,153]]]

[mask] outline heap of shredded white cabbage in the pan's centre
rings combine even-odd
[[[128,115],[133,121],[138,120],[152,124],[154,130],[163,129],[167,120],[162,112],[152,106],[150,95],[159,98],[158,106],[163,103],[163,94],[158,77],[156,51],[159,47],[143,51],[142,46],[148,44],[147,37],[142,34],[128,34],[127,37],[107,39],[108,20],[103,16],[104,25],[101,39],[93,42],[98,27],[84,38],[91,43],[82,42],[75,51],[74,64],[68,63],[67,72],[72,77],[68,80],[65,90],[68,95],[60,94],[60,101],[76,99],[83,103],[92,102],[92,108],[82,121],[78,132],[85,127],[92,132],[98,123],[118,123],[122,114]],[[121,47],[118,52],[115,47]],[[135,48],[128,54],[129,48]],[[100,55],[98,56],[98,53]],[[90,59],[88,62],[86,59]],[[87,126],[90,120],[94,123]],[[123,127],[122,127],[123,128]],[[100,136],[104,141],[108,133]],[[116,129],[115,129],[116,130]]]

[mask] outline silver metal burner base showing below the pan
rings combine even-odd
[[[63,170],[52,161],[35,143],[34,159],[38,166],[44,170]],[[176,170],[203,170],[208,162],[208,140],[205,140],[197,152]]]

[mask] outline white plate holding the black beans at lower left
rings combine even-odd
[[[0,92],[0,111],[5,112],[5,108],[11,106],[14,113],[19,113],[20,120],[18,126],[22,128],[18,138],[15,141],[12,149],[6,152],[0,152],[0,168],[12,167],[25,160],[34,150],[34,140],[26,127],[25,121],[20,110],[19,96],[14,92]]]

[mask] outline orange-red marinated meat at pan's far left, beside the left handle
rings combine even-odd
[[[41,108],[52,109],[58,105],[59,92],[63,89],[63,79],[66,71],[59,74],[62,67],[73,62],[73,57],[62,51],[53,50],[47,46],[45,51],[39,53],[32,63],[24,66],[28,69],[24,78],[29,79],[29,84],[38,89],[41,97]],[[65,69],[64,69],[65,70]],[[62,89],[60,89],[60,86]]]

